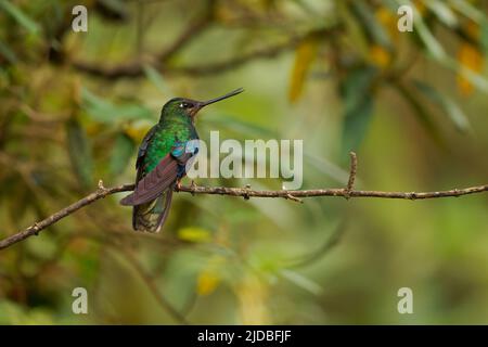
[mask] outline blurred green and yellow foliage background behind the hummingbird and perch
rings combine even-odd
[[[88,31],[72,30],[77,4]],[[400,33],[401,4],[413,9]],[[488,1],[0,0],[0,237],[134,179],[172,97],[202,139],[304,139],[303,189],[488,178]],[[185,179],[184,183],[189,183]],[[197,184],[280,189],[281,179]],[[488,323],[488,196],[176,194],[159,234],[125,194],[0,250],[3,324]],[[88,291],[88,314],[72,292]],[[413,314],[397,292],[413,291]]]

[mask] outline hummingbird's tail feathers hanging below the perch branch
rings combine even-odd
[[[172,200],[172,188],[166,190],[159,197],[133,206],[132,227],[137,231],[159,232],[169,215]]]

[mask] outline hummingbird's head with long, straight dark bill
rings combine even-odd
[[[198,113],[198,111],[202,110],[203,107],[205,107],[206,105],[231,98],[243,91],[244,91],[244,89],[239,88],[227,94],[223,94],[221,97],[214,98],[214,99],[210,99],[207,101],[196,101],[196,100],[192,100],[192,99],[174,98],[174,99],[169,100],[163,106],[163,110],[160,112],[160,119],[163,120],[163,118],[166,117],[167,115],[176,115],[176,116],[188,118],[191,121],[194,121],[195,116]]]

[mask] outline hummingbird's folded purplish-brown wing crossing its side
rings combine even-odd
[[[120,201],[120,204],[126,206],[141,205],[159,196],[178,178],[179,164],[180,160],[171,154],[166,155],[154,170],[137,183],[133,193]]]

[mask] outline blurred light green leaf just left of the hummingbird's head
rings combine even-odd
[[[88,115],[97,121],[114,123],[117,120],[153,119],[153,112],[142,105],[126,103],[114,105],[97,97],[88,89],[81,89],[84,107]]]

